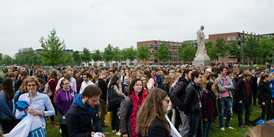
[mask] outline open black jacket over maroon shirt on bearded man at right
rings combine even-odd
[[[247,103],[248,101],[252,103],[252,81],[249,81],[249,100],[247,100],[247,94],[245,91],[245,82],[243,81],[243,77],[238,81],[235,87],[235,100],[237,102],[241,101]]]

